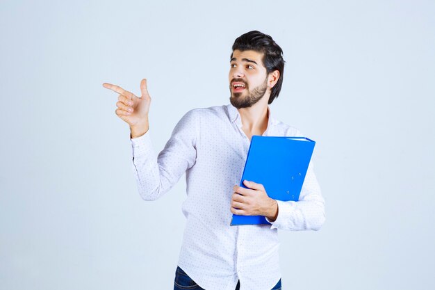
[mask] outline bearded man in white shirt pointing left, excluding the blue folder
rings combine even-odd
[[[250,31],[236,39],[229,70],[230,102],[183,116],[158,156],[151,147],[147,81],[141,97],[119,93],[117,116],[130,125],[133,170],[144,200],[156,200],[186,172],[187,218],[174,289],[281,289],[277,229],[320,229],[325,202],[310,164],[298,202],[272,200],[243,173],[253,135],[302,136],[275,120],[268,104],[281,90],[284,59],[269,35]],[[232,214],[262,215],[271,225],[230,226]]]

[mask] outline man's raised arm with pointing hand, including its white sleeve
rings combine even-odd
[[[149,138],[148,112],[151,104],[147,79],[140,81],[141,97],[111,83],[104,88],[120,94],[116,103],[116,115],[129,124],[133,147],[133,171],[140,196],[144,200],[156,200],[193,166],[196,160],[196,136],[193,111],[181,118],[165,149],[156,156]]]

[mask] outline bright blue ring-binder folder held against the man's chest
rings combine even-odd
[[[274,200],[299,200],[315,142],[305,137],[252,136],[244,180],[263,184]],[[270,225],[264,216],[233,214],[231,225]]]

